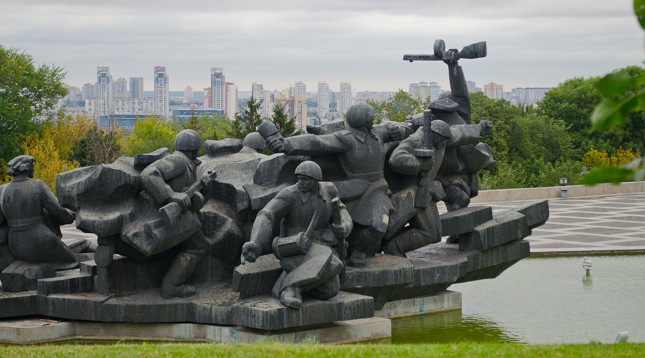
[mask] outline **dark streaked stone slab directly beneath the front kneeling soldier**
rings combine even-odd
[[[245,299],[233,306],[232,323],[260,330],[282,330],[373,315],[372,297],[341,291],[326,301],[305,298],[299,310],[288,308],[270,296]]]

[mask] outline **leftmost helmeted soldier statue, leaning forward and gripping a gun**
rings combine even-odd
[[[195,210],[190,207],[192,198],[183,191],[197,181],[197,166],[201,163],[197,159],[197,152],[202,145],[201,136],[197,132],[183,130],[175,137],[175,152],[155,161],[141,172],[141,186],[159,207],[178,203],[184,212]],[[184,283],[195,269],[197,261],[206,254],[206,243],[201,225],[199,226],[194,234],[179,244],[181,251],[170,264],[161,284],[161,295],[164,298],[195,295],[195,288]]]

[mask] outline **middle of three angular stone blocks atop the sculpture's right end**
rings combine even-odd
[[[518,212],[495,214],[492,220],[459,237],[460,250],[488,250],[528,235],[526,217]]]

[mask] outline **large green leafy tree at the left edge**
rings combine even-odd
[[[37,117],[48,114],[67,93],[63,68],[34,65],[34,58],[0,45],[0,158],[20,153],[21,136],[39,129]]]

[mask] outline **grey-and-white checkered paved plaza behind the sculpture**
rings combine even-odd
[[[493,212],[517,206],[519,201],[477,203]],[[441,204],[441,212],[445,207]],[[549,199],[550,217],[527,238],[535,254],[564,252],[645,252],[645,193]],[[63,241],[93,239],[74,224],[61,227]]]

